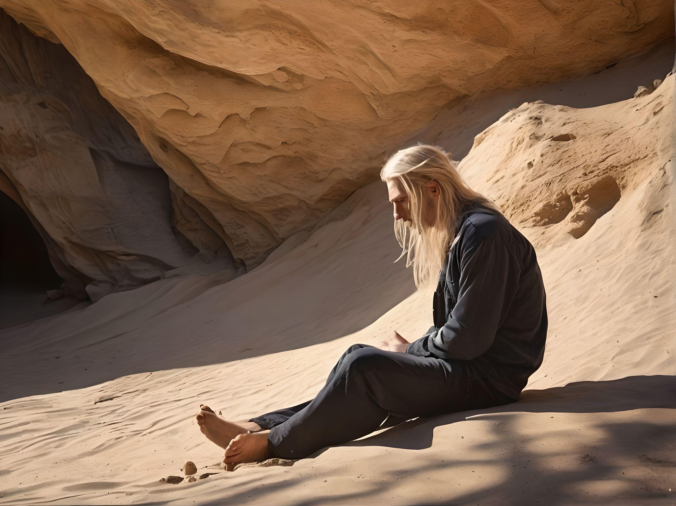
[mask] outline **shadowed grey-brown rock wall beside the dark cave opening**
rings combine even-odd
[[[3,12],[0,26],[0,191],[41,234],[62,292],[97,300],[193,261],[167,177],[128,122],[62,45]]]

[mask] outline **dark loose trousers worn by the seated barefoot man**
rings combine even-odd
[[[381,426],[512,402],[473,377],[466,364],[354,344],[314,399],[250,421],[270,429],[272,456],[303,459]]]

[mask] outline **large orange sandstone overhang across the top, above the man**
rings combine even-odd
[[[375,181],[445,106],[673,36],[671,0],[626,4],[0,0],[132,124],[172,182],[174,228],[247,269]]]

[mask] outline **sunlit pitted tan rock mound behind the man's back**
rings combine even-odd
[[[581,239],[621,198],[638,202],[640,228],[649,229],[669,205],[676,119],[673,89],[661,79],[644,88],[602,108],[522,103],[475,137],[458,170],[512,223],[534,229],[539,248]]]

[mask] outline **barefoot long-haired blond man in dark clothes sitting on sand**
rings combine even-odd
[[[439,147],[396,152],[381,179],[397,260],[407,254],[419,288],[437,283],[434,325],[413,342],[395,332],[379,348],[350,346],[306,403],[243,423],[201,405],[201,432],[225,449],[226,465],[302,459],[407,419],[512,403],[541,365],[546,296],[528,239]]]

